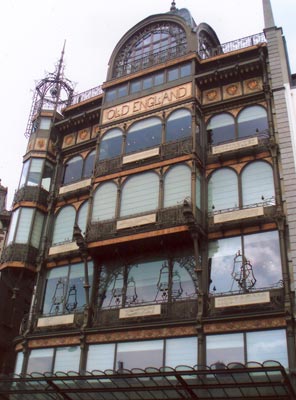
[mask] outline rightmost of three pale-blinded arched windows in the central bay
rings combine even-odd
[[[177,165],[168,170],[164,178],[164,207],[182,204],[191,198],[191,171],[187,165]]]

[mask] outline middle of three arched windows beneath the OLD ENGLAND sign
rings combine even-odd
[[[161,143],[161,120],[156,117],[135,122],[127,132],[126,153],[158,146]]]

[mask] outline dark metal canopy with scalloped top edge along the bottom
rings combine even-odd
[[[5,400],[296,399],[285,369],[275,362],[199,369],[146,368],[14,375],[0,379]]]

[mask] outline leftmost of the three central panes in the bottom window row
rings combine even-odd
[[[87,371],[105,371],[114,368],[115,344],[90,345],[87,353]]]

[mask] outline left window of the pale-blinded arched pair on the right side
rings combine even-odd
[[[237,174],[230,168],[215,171],[208,183],[208,210],[239,206]]]

